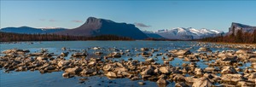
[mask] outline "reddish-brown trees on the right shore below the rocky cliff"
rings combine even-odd
[[[242,29],[229,35],[218,36],[214,38],[202,38],[199,41],[216,43],[234,43],[234,44],[256,44],[256,30],[254,32],[242,32]]]

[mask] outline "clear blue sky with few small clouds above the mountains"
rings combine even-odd
[[[75,28],[90,16],[135,24],[141,30],[175,27],[228,32],[232,22],[256,26],[256,1],[1,0],[1,28]]]

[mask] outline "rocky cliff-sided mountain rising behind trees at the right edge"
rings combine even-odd
[[[239,30],[241,30],[242,32],[253,33],[254,30],[256,30],[256,26],[247,26],[244,24],[232,22],[229,32],[228,32],[228,35],[232,34],[233,32],[235,32],[235,34],[236,34],[236,32],[238,32]]]

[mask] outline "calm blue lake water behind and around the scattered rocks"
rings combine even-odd
[[[61,54],[63,52],[61,50],[62,47],[70,48],[73,50],[88,50],[89,53],[93,54],[95,52],[92,49],[93,47],[101,47],[101,48],[114,48],[119,50],[131,50],[130,56],[123,55],[122,58],[117,58],[114,60],[127,60],[128,58],[133,58],[135,60],[144,61],[142,56],[136,56],[135,54],[138,53],[135,51],[135,49],[140,48],[154,48],[154,49],[160,49],[159,52],[155,52],[154,55],[162,52],[166,53],[167,50],[170,49],[186,49],[190,48],[193,45],[198,44],[196,42],[189,42],[189,41],[64,41],[64,42],[33,42],[33,44],[27,44],[26,42],[23,42],[21,44],[0,44],[1,45],[1,51],[5,49],[29,49],[31,52],[37,52],[40,49],[49,49],[49,53],[55,53],[55,55]],[[191,51],[195,51],[200,47],[193,46],[191,48]],[[212,51],[216,50],[223,50],[222,49],[216,49],[212,48]],[[100,50],[104,54],[108,54],[110,52],[113,52],[109,50],[106,52],[105,50]],[[73,54],[72,52],[66,57],[68,57]],[[100,56],[96,56],[100,57]],[[162,56],[156,56],[159,58],[159,63],[163,63],[161,60]],[[175,58],[174,61],[171,61],[170,63],[172,66],[181,66],[183,62],[189,63],[189,61],[182,61],[181,59]],[[198,62],[198,66],[204,68],[207,67],[207,65],[204,64],[205,62],[200,61]],[[94,76],[94,77],[88,77],[89,80],[86,80],[84,84],[79,84],[79,78],[84,77],[75,77],[75,78],[62,78],[63,72],[55,72],[55,73],[44,73],[41,74],[38,71],[35,72],[10,72],[10,73],[3,73],[3,70],[0,70],[0,86],[1,87],[49,87],[49,86],[55,86],[55,87],[80,87],[80,86],[142,86],[137,84],[137,82],[142,80],[136,80],[131,81],[129,78],[117,78],[117,79],[108,79],[106,77],[101,76]],[[113,83],[109,83],[112,81]],[[146,84],[143,86],[157,86],[155,82],[151,81],[145,81]],[[175,83],[168,84],[167,86],[174,86]]]

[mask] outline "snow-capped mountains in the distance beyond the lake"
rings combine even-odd
[[[159,34],[163,38],[182,39],[182,40],[215,37],[215,36],[224,34],[224,32],[217,31],[217,30],[209,30],[206,28],[195,29],[192,27],[188,27],[188,28],[177,27],[171,30],[167,30],[167,29],[158,30],[157,32],[154,32],[154,33]]]

